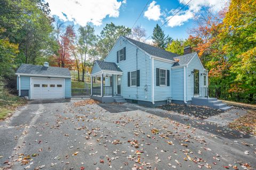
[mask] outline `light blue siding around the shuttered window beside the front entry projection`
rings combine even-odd
[[[172,96],[171,67],[172,63],[167,63],[154,59],[154,101],[163,101]],[[170,86],[156,86],[156,68],[170,70]],[[166,72],[167,74],[167,72]]]

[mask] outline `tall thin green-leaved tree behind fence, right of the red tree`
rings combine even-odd
[[[82,81],[84,82],[86,56],[93,50],[97,41],[97,36],[94,34],[94,28],[88,23],[85,27],[79,27],[78,33],[79,39],[77,45],[82,62]]]

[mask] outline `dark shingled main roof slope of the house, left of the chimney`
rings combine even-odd
[[[158,56],[164,59],[168,59],[168,60],[172,60],[174,61],[174,57],[179,56],[178,54],[169,52],[169,51],[165,51],[161,48],[146,44],[146,43],[142,43],[139,41],[136,41],[134,39],[125,37],[128,41],[130,41],[131,43],[133,43],[134,45],[140,47],[142,50],[144,50],[145,52],[147,52],[150,55],[154,55],[154,56]]]

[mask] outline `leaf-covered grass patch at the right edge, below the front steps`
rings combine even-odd
[[[256,136],[256,110],[249,110],[245,115],[231,122],[229,127]]]

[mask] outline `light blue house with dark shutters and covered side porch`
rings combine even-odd
[[[219,104],[217,99],[207,98],[207,70],[197,53],[191,53],[190,46],[184,53],[180,56],[121,36],[105,61],[93,65],[91,98],[149,107],[169,102],[190,104],[198,98]],[[97,77],[101,85],[93,87]]]

